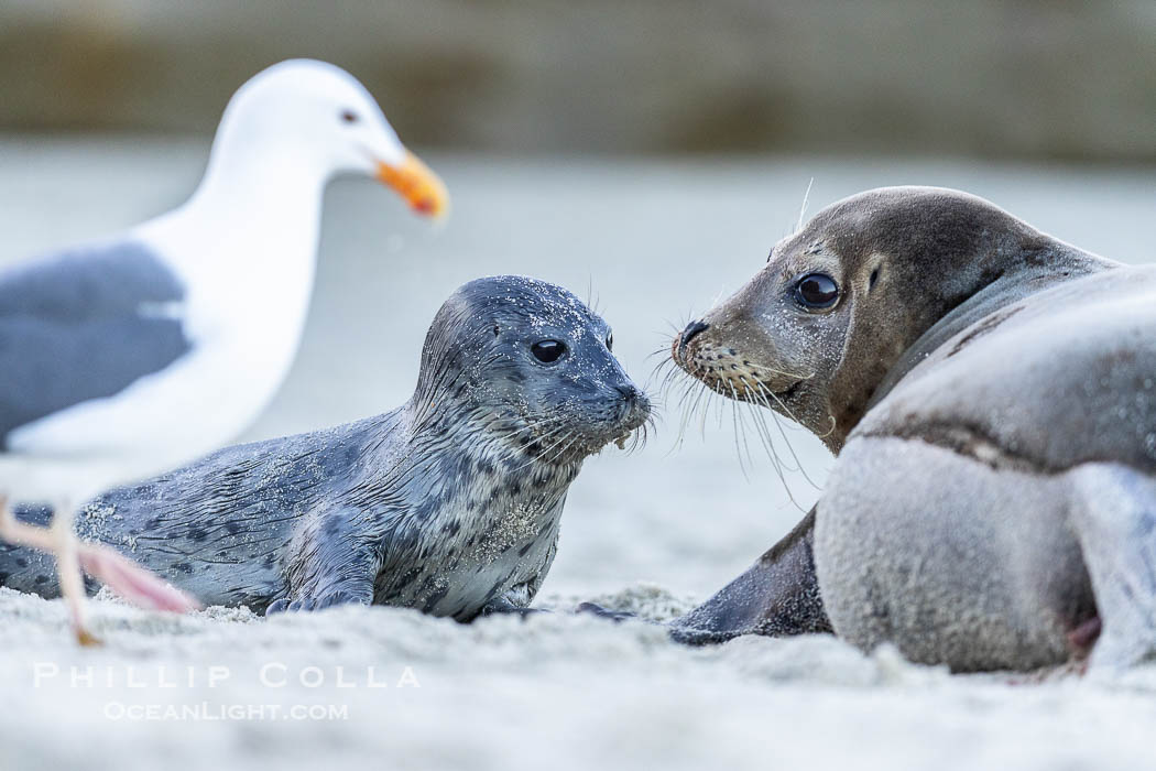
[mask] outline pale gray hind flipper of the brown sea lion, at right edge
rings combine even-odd
[[[1156,479],[1116,464],[1072,473],[1072,525],[1096,593],[1102,629],[1094,667],[1156,657]]]

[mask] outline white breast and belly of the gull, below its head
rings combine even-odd
[[[266,216],[178,210],[140,228],[136,237],[186,290],[181,303],[141,313],[181,318],[192,349],[110,398],[15,431],[10,448],[116,458],[141,477],[236,437],[273,399],[297,353],[316,270],[319,198]]]

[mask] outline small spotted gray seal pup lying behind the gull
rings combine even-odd
[[[583,460],[649,414],[609,344],[606,323],[558,287],[470,282],[437,313],[405,406],[113,491],[81,535],[210,605],[379,603],[461,621],[525,608]],[[53,596],[51,576],[42,556],[0,549],[3,585]]]

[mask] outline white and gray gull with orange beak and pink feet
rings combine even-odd
[[[338,175],[373,177],[423,215],[449,208],[356,79],[283,61],[229,101],[184,205],[0,273],[0,538],[55,556],[82,644],[96,642],[82,570],[144,607],[197,607],[80,542],[76,510],[221,446],[268,405],[299,344]],[[51,522],[18,519],[15,503],[51,505]]]

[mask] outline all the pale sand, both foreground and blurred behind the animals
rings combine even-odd
[[[193,184],[202,154],[0,142],[0,261],[164,209]],[[810,177],[812,212],[875,185],[942,184],[1118,259],[1148,261],[1156,240],[1151,170],[468,157],[435,166],[455,195],[443,231],[369,184],[334,187],[301,359],[251,436],[400,403],[429,319],[482,274],[529,273],[579,294],[593,283],[628,370],[644,379],[665,320],[684,321],[756,270],[794,225]],[[670,617],[788,529],[798,509],[755,447],[744,479],[727,410],[721,427],[711,413],[705,438],[696,422],[677,452],[667,421],[642,453],[587,465],[539,605],[593,599]],[[822,484],[830,458],[788,436]],[[802,506],[817,495],[798,475],[790,484]],[[1156,668],[953,677],[829,637],[688,650],[659,627],[565,613],[470,627],[383,608],[267,622],[225,609],[162,617],[105,600],[95,614],[106,644],[79,650],[58,602],[0,590],[0,768],[356,758],[385,769],[1122,769],[1150,766],[1156,751]],[[290,719],[294,706],[338,713]]]

